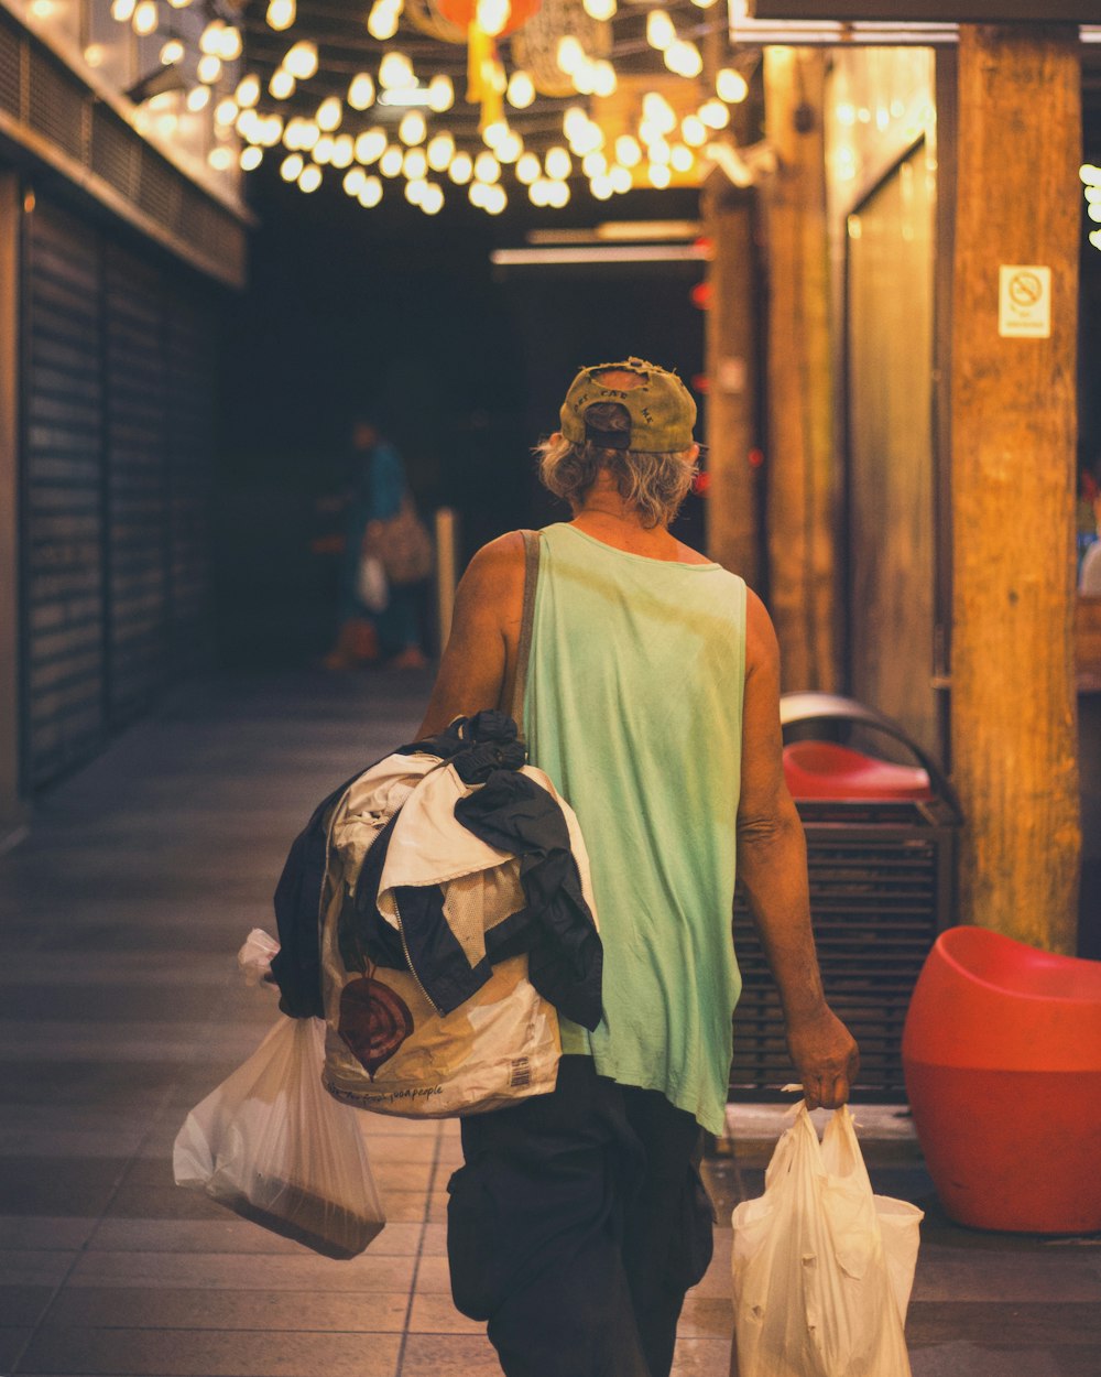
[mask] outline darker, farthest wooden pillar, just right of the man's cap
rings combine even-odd
[[[707,554],[761,591],[756,350],[757,273],[750,193],[712,174],[703,193],[707,282]]]

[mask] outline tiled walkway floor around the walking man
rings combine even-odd
[[[497,1374],[447,1290],[454,1125],[363,1118],[389,1224],[351,1263],[171,1173],[187,1108],[274,1018],[233,957],[272,925],[288,843],[330,785],[409,737],[425,688],[300,675],[195,690],[55,790],[0,858],[0,1374]],[[930,1212],[914,1377],[1101,1377],[1101,1239],[954,1227],[899,1125],[873,1129],[868,1158],[881,1188]],[[721,1221],[761,1188],[775,1136],[775,1115],[739,1111],[736,1164],[712,1164]],[[729,1230],[716,1239],[678,1377],[727,1373]]]

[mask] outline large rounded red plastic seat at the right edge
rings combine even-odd
[[[914,989],[903,1067],[952,1219],[1101,1230],[1101,961],[950,928]]]

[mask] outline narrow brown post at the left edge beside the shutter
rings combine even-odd
[[[19,826],[19,183],[0,172],[0,845]]]

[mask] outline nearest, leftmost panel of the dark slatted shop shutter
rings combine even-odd
[[[39,204],[26,218],[23,772],[29,786],[105,735],[99,246]]]

